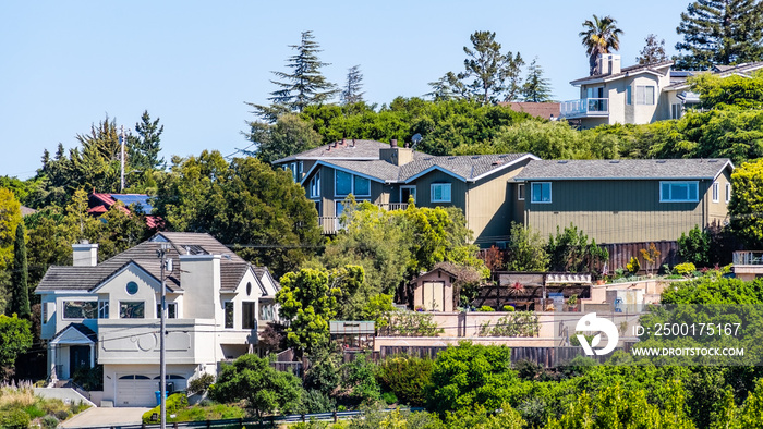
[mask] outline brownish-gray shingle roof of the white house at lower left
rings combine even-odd
[[[220,289],[223,291],[234,289],[250,267],[249,262],[209,234],[162,232],[149,241],[98,263],[96,267],[52,266],[45,273],[36,291],[90,291],[131,262],[143,268],[155,279],[159,279],[161,277],[161,261],[157,258],[157,250],[161,248],[161,242],[154,241],[157,237],[169,241],[171,246],[167,250],[167,258],[172,258],[175,261],[166,283],[171,291],[182,290],[180,263],[177,263],[180,255],[194,253],[229,255],[230,258],[226,257],[220,260]]]

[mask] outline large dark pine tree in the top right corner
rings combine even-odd
[[[707,70],[763,59],[763,2],[760,0],[697,0],[681,13],[676,28],[683,41],[676,66]]]

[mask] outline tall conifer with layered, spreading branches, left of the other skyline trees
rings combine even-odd
[[[313,32],[302,32],[300,45],[290,45],[296,53],[287,60],[291,73],[272,72],[281,81],[270,81],[280,89],[270,93],[270,106],[249,103],[255,113],[268,122],[276,122],[286,112],[302,112],[310,105],[320,105],[330,100],[336,94],[336,85],[328,82],[320,73],[326,65],[318,59],[320,46],[314,40]]]

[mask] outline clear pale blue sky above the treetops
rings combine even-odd
[[[162,156],[245,147],[265,102],[270,71],[286,70],[289,45],[311,29],[343,82],[360,64],[365,98],[388,103],[422,96],[428,82],[459,71],[475,30],[496,32],[504,50],[534,57],[557,99],[577,97],[585,76],[578,33],[592,14],[611,15],[630,65],[647,34],[668,54],[688,0],[613,1],[3,1],[0,3],[0,175],[26,179],[43,150],[71,148],[106,114],[132,128],[148,110],[165,125]]]

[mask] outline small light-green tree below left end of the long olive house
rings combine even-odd
[[[521,223],[511,222],[506,269],[509,271],[548,270],[549,258],[545,247],[546,243],[537,231],[525,228]]]

